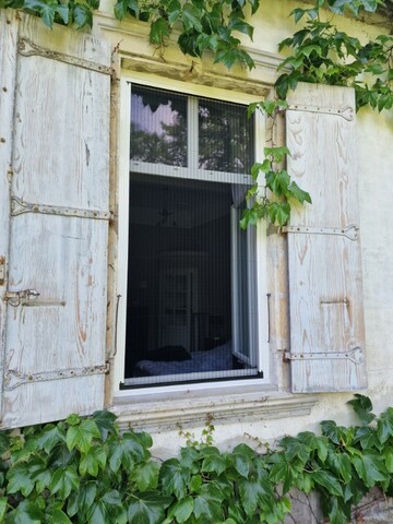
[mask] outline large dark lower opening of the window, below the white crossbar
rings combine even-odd
[[[234,356],[233,202],[228,183],[130,175],[127,385],[255,374]]]

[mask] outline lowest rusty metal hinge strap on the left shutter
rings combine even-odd
[[[12,391],[23,384],[33,382],[47,382],[50,380],[73,379],[92,374],[106,374],[109,372],[109,362],[85,368],[68,368],[56,371],[43,371],[41,373],[24,373],[15,369],[9,369],[4,373],[4,390]]]

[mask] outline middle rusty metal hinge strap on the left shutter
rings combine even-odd
[[[33,204],[17,196],[11,196],[11,216],[24,213],[43,213],[45,215],[74,216],[78,218],[95,218],[97,221],[110,221],[110,211],[80,210],[78,207],[64,207],[61,205]]]

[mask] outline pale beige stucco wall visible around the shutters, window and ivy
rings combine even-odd
[[[266,52],[273,60],[276,53],[277,44],[294,31],[294,24],[288,14],[296,2],[287,0],[261,0],[261,9],[253,19],[255,27],[254,41],[246,41],[247,47],[257,52]],[[95,32],[102,33],[109,38],[114,46],[119,47],[120,55],[128,58],[133,53],[139,57],[157,58],[157,50],[151,48],[147,43],[147,27],[145,24],[139,24],[135,21],[128,20],[119,24],[111,15],[112,5],[109,0],[102,2],[103,13],[96,19]],[[348,33],[357,35],[364,41],[371,36],[376,36],[383,29],[378,25],[365,24],[348,19],[336,16],[337,24]],[[133,35],[133,36],[132,36]],[[136,35],[136,36],[135,36]],[[272,55],[269,55],[272,53]],[[212,66],[206,62],[198,62],[190,57],[183,57],[175,47],[168,46],[163,57],[170,64],[184,64],[191,67],[194,63],[199,71],[211,71]],[[274,62],[274,60],[273,60]],[[273,63],[272,62],[272,63]],[[226,74],[223,67],[214,69],[222,74]],[[237,78],[252,78],[254,80],[265,81],[274,76],[274,70],[267,68],[265,71],[257,70],[251,73],[246,70],[236,69],[231,75]],[[272,76],[273,75],[273,76]],[[190,80],[187,79],[187,80]],[[198,82],[198,78],[195,80]],[[269,83],[269,82],[267,82]],[[391,227],[390,211],[393,202],[393,178],[392,178],[392,145],[393,145],[393,112],[383,112],[379,115],[369,109],[361,109],[357,116],[357,142],[359,159],[359,194],[360,194],[360,226],[361,243],[364,255],[364,291],[365,291],[365,314],[366,314],[366,336],[367,336],[367,367],[369,389],[362,392],[369,395],[374,404],[374,412],[380,413],[390,405],[393,405],[393,343],[391,336],[391,323],[393,319],[393,229]],[[323,154],[323,152],[321,152]],[[278,377],[286,376],[286,368],[281,369],[283,365],[281,359],[274,361],[276,366],[275,373]],[[284,380],[284,379],[283,379]],[[211,394],[219,396],[222,392],[215,390]],[[265,402],[270,392],[264,392]],[[276,393],[274,393],[276,394]],[[274,396],[273,394],[273,396]],[[196,396],[186,394],[190,400],[190,405]],[[308,409],[309,413],[301,414],[302,402],[306,403],[310,397],[303,395],[287,410],[283,410],[282,416],[274,418],[270,414],[264,415],[263,410],[257,417],[254,409],[250,407],[239,415],[228,417],[219,416],[219,409],[213,415],[213,425],[215,426],[214,438],[216,443],[226,449],[239,441],[246,441],[252,444],[250,436],[265,441],[274,442],[283,434],[295,434],[305,430],[318,430],[318,422],[323,419],[334,419],[338,424],[350,424],[353,418],[352,410],[346,406],[346,402],[352,394],[318,394],[312,395],[313,406]],[[303,401],[302,401],[303,398]],[[162,398],[163,403],[167,398]],[[156,400],[159,404],[159,398]],[[176,398],[171,407],[176,408]],[[138,398],[132,401],[133,407],[139,403]],[[163,404],[164,405],[164,404]],[[194,421],[187,420],[184,417],[184,405],[179,400],[179,420],[183,430],[190,430],[200,434],[203,428],[203,416],[199,415]],[[122,414],[121,422],[128,425],[127,402],[117,408]],[[186,408],[187,410],[187,408]],[[141,413],[143,412],[143,405]],[[209,408],[206,407],[206,413]],[[168,456],[178,451],[179,445],[184,443],[184,439],[179,437],[176,429],[176,416],[171,421],[164,420],[159,422],[159,417],[154,426],[147,425],[154,436],[156,455]],[[182,417],[181,417],[181,416]],[[130,418],[131,425],[140,428],[143,424],[138,422],[138,416]],[[186,420],[186,421],[181,421]]]

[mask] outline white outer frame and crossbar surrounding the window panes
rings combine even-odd
[[[129,172],[130,166],[133,164],[138,167],[139,172],[156,174],[157,166],[155,164],[148,165],[147,163],[131,162],[129,159],[130,147],[130,114],[131,114],[131,97],[130,97],[130,84],[138,83],[140,85],[168,90],[171,92],[179,92],[186,95],[193,95],[196,97],[222,99],[225,102],[233,102],[236,104],[245,104],[245,109],[248,104],[259,102],[263,98],[255,95],[248,95],[243,93],[237,93],[233,91],[225,91],[222,88],[207,87],[203,85],[189,84],[181,81],[175,81],[164,79],[157,75],[139,73],[130,71],[123,72],[120,81],[120,124],[119,124],[119,228],[118,228],[118,296],[120,296],[119,309],[118,309],[118,322],[117,322],[117,352],[114,369],[114,400],[126,398],[132,396],[160,394],[164,392],[181,392],[190,390],[204,390],[204,389],[231,389],[250,384],[249,379],[236,379],[229,381],[216,382],[210,381],[196,383],[172,383],[170,385],[154,385],[152,388],[134,388],[120,390],[119,385],[124,379],[124,360],[126,360],[126,325],[127,325],[127,278],[128,278],[128,224],[129,224]],[[255,114],[255,162],[263,159],[263,147],[265,144],[265,121],[261,114]],[[191,166],[190,166],[191,167]],[[159,174],[165,175],[166,166],[159,166]],[[190,168],[182,167],[169,167],[168,175],[180,178],[190,178]],[[198,179],[206,179],[209,181],[226,181],[225,175],[219,171],[209,171],[198,169]],[[241,181],[249,181],[248,175],[239,175],[239,183]],[[253,378],[254,384],[269,384],[271,383],[271,362],[269,352],[269,318],[267,318],[267,288],[266,288],[266,226],[261,223],[257,226],[255,234],[255,259],[258,261],[255,267],[255,289],[257,289],[257,308],[258,308],[258,327],[252,330],[251,336],[258,340],[258,357],[259,368],[263,368],[263,378]]]

